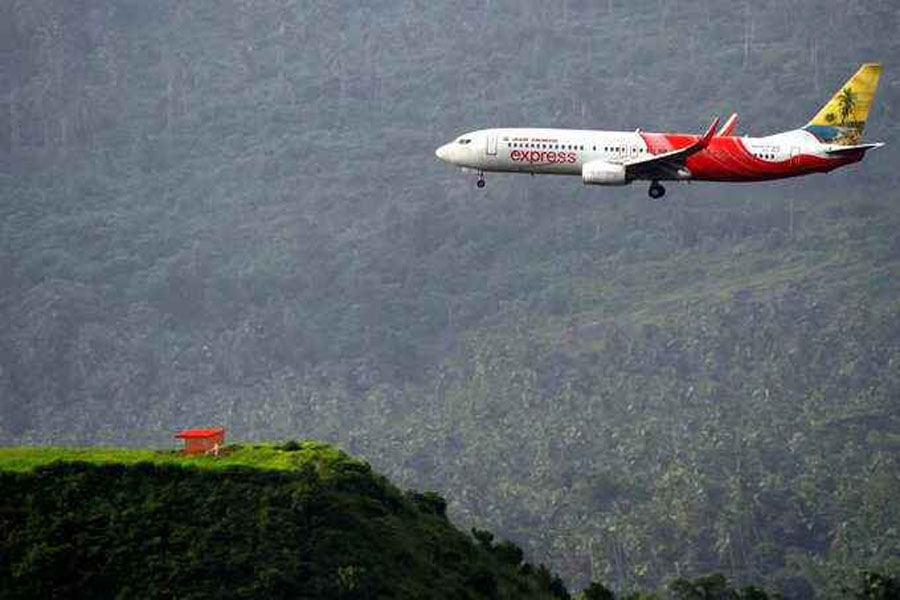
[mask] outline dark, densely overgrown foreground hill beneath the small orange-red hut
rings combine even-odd
[[[456,530],[435,494],[402,494],[323,445],[290,471],[0,459],[3,598],[567,598],[509,543]],[[199,466],[199,465],[198,465]]]

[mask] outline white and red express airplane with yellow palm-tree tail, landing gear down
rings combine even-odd
[[[479,188],[487,172],[581,175],[586,185],[650,181],[653,199],[666,193],[660,181],[749,182],[826,173],[859,162],[867,151],[884,145],[862,141],[880,76],[880,63],[863,64],[809,123],[766,137],[732,135],[735,113],[718,131],[719,119],[713,119],[702,135],[482,129],[444,144],[435,154],[476,172]]]

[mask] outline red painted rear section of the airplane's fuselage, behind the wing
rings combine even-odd
[[[641,133],[652,154],[662,154],[694,144],[696,135],[678,133]],[[789,159],[774,161],[757,158],[744,146],[741,138],[714,137],[709,146],[689,156],[686,166],[692,179],[698,181],[766,181],[798,177],[809,173],[825,173],[840,166],[858,162],[863,151],[834,158],[798,154]]]

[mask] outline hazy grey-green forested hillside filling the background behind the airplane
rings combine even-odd
[[[0,443],[316,437],[573,589],[900,568],[890,0],[0,3]],[[471,177],[482,126],[804,124],[750,186]]]

